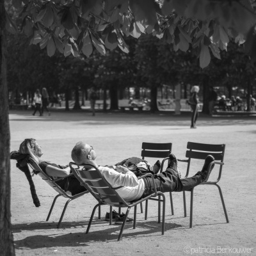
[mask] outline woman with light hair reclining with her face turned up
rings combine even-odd
[[[19,151],[21,154],[28,154],[31,156],[35,162],[40,166],[40,168],[47,175],[51,177],[51,179],[58,179],[61,177],[66,177],[70,174],[69,166],[61,166],[58,164],[50,163],[49,161],[44,161],[41,159],[42,152],[41,146],[36,142],[35,139],[26,139],[20,144]],[[76,177],[66,177],[62,180],[56,181],[56,184],[60,186],[65,191],[70,191],[72,195],[77,195],[81,192],[86,191],[86,188],[81,185],[81,183],[76,179]]]

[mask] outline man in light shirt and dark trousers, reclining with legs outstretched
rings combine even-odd
[[[98,166],[95,161],[97,155],[94,148],[81,141],[76,143],[71,157],[76,164],[93,164]],[[211,173],[214,167],[214,164],[212,164],[208,171],[212,161],[214,161],[214,157],[211,155],[207,156],[200,172],[196,173],[193,177],[180,179],[180,175],[177,172],[177,159],[173,154],[170,154],[170,163],[166,171],[154,176],[157,191],[163,193],[189,191],[189,189],[194,188],[207,179],[208,172]],[[152,177],[138,180],[136,175],[124,166],[113,166],[113,168],[98,166],[98,169],[113,188],[122,186],[122,188],[116,189],[116,192],[127,202],[138,200],[154,193]]]

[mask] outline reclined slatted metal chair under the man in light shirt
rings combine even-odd
[[[111,185],[108,183],[108,181],[104,178],[100,170],[93,166],[92,164],[75,164],[70,163],[70,168],[76,178],[84,185],[84,187],[94,196],[94,198],[98,201],[98,204],[95,205],[92,211],[92,216],[90,218],[90,221],[88,223],[88,227],[86,230],[86,234],[88,234],[90,227],[92,225],[92,220],[94,213],[97,209],[97,207],[100,207],[100,205],[109,205],[110,206],[110,221],[109,225],[112,224],[112,207],[127,207],[127,211],[125,213],[124,222],[122,224],[119,236],[117,241],[120,241],[122,238],[122,234],[124,231],[125,223],[127,220],[127,216],[129,214],[129,211],[131,207],[134,207],[134,223],[133,228],[136,228],[136,213],[137,213],[137,205],[141,202],[152,199],[159,202],[163,202],[163,223],[162,223],[162,234],[164,234],[164,219],[165,219],[165,196],[162,192],[156,191],[156,185],[154,184],[154,193],[152,195],[148,195],[145,198],[142,198],[140,200],[136,200],[133,202],[126,202],[118,193],[116,192],[116,189],[120,188],[112,188]],[[142,179],[146,176],[152,176],[151,173],[147,173],[138,179]],[[162,196],[163,199],[159,200],[159,198],[155,198],[156,196]],[[154,198],[153,198],[154,197]]]

